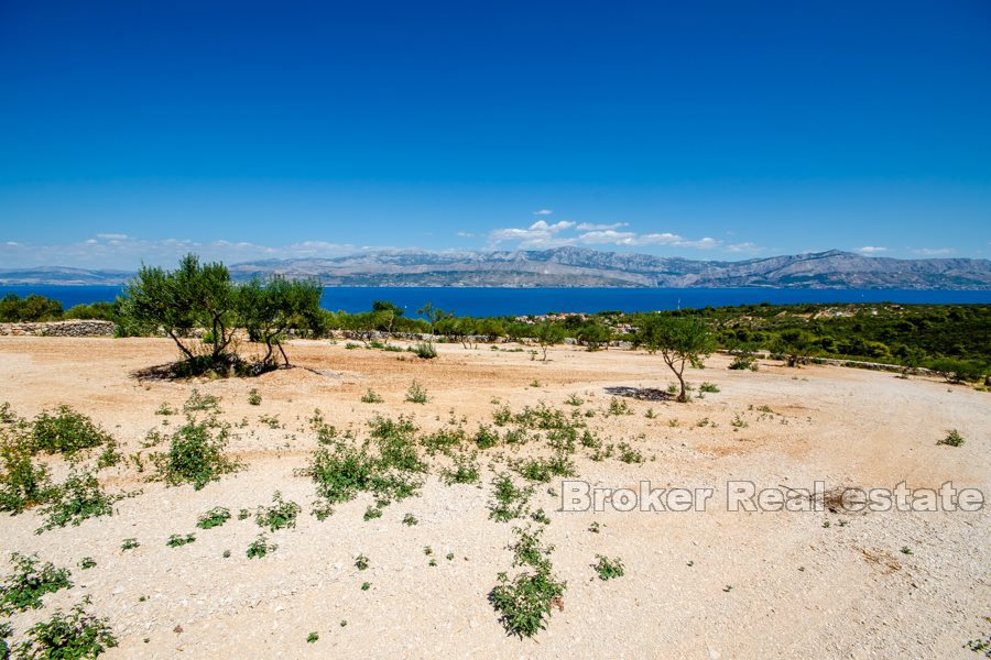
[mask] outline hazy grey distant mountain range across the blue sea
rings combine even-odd
[[[326,286],[770,287],[991,289],[991,261],[901,260],[839,250],[740,262],[693,261],[580,248],[496,252],[393,250],[235,264],[237,279],[281,274]],[[0,268],[0,284],[116,285],[126,271]]]

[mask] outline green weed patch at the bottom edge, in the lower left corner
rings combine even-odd
[[[39,622],[28,630],[18,646],[19,658],[96,658],[117,646],[107,619],[86,612],[89,596],[69,610],[57,610],[47,622]]]

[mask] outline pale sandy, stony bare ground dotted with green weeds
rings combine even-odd
[[[641,400],[625,395],[673,382],[657,356],[559,346],[542,363],[513,344],[499,348],[442,344],[437,360],[421,361],[296,341],[288,348],[295,369],[179,383],[134,376],[176,358],[167,340],[0,338],[0,402],[17,414],[31,418],[66,404],[108,430],[124,455],[146,454],[155,451],[143,447],[151,429],[181,424],[181,416],[156,410],[163,403],[182,409],[196,388],[220,398],[222,418],[233,425],[228,450],[243,463],[195,491],[149,482],[150,470],[127,460],[99,472],[109,492],[140,492],[118,502],[112,516],[43,534],[35,534],[43,522],[35,510],[0,518],[0,553],[37,552],[73,572],[72,588],[10,618],[13,640],[88,595],[89,609],[108,619],[119,640],[108,658],[979,657],[963,647],[991,632],[987,507],[731,512],[727,483],[792,492],[817,481],[830,491],[952,482],[987,493],[988,393],[832,366],[766,362],[755,373],[729,371],[728,360],[714,356],[689,380],[719,392],[690,404]],[[414,380],[426,404],[404,402]],[[252,388],[258,406],[249,403]],[[369,388],[384,400],[362,403]],[[504,406],[519,411],[540,402],[568,416],[578,410],[576,419],[607,446],[629,446],[632,462],[619,451],[601,460],[585,449],[575,453],[579,479],[590,485],[636,488],[649,481],[709,487],[714,496],[704,512],[568,513],[558,510],[562,477],[536,484],[530,506],[551,520],[544,537],[567,588],[563,608],[533,638],[507,635],[487,598],[498,573],[513,572],[508,544],[522,522],[490,519],[490,482],[543,443],[480,451],[473,485],[445,485],[438,472],[450,459],[428,458],[421,494],[384,507],[379,518],[364,519],[373,504],[368,494],[323,521],[312,515],[317,498],[305,469],[318,447],[307,421],[315,409],[361,439],[375,414],[407,415],[422,433],[458,426],[473,432]],[[952,428],[966,443],[937,444]],[[65,475],[61,458],[44,460],[54,477]],[[295,528],[269,534],[277,549],[262,559],[246,556],[261,531],[253,517],[196,528],[213,507],[253,513],[275,491],[302,513]],[[418,524],[404,525],[407,514]],[[189,532],[195,542],[165,544]],[[127,538],[140,547],[122,550]],[[364,571],[355,565],[359,554],[369,560]],[[621,558],[624,575],[600,580],[591,565],[597,554]],[[84,557],[96,566],[79,569]],[[311,632],[318,639],[307,642]]]

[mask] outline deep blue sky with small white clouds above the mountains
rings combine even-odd
[[[987,0],[0,2],[0,267],[988,257],[989,34]]]

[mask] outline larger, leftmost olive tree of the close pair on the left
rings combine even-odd
[[[161,328],[190,363],[207,358],[208,366],[224,362],[233,338],[236,295],[230,273],[221,263],[200,264],[187,254],[176,271],[142,266],[124,288],[121,315],[145,328]],[[193,330],[205,328],[202,342]],[[209,346],[204,351],[203,346]]]

